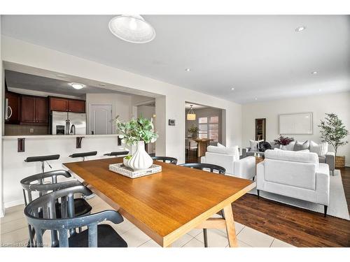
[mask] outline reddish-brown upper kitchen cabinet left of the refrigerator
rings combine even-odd
[[[21,96],[21,124],[48,124],[48,99],[40,96]]]

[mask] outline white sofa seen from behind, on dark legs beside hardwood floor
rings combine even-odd
[[[266,150],[256,169],[256,189],[324,205],[327,214],[330,191],[328,164],[316,153]]]

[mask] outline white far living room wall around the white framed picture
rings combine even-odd
[[[318,124],[325,113],[333,112],[342,119],[350,130],[350,92],[305,96],[262,103],[250,103],[242,108],[243,146],[249,145],[249,139],[255,136],[255,118],[266,118],[266,140],[272,141],[279,136],[279,115],[286,113],[312,112],[314,133],[312,135],[289,135],[295,140],[314,140],[320,142]],[[350,142],[350,137],[347,138]],[[346,157],[346,166],[350,166],[350,144],[339,148],[339,156]]]

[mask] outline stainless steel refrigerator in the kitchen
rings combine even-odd
[[[51,111],[52,135],[86,135],[86,114]]]

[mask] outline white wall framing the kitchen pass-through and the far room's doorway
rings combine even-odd
[[[226,144],[228,146],[241,145],[241,105],[237,103],[7,36],[1,38],[1,49],[3,50],[3,61],[164,95],[165,117],[161,123],[157,122],[158,131],[164,129],[167,134],[163,141],[165,145],[162,145],[165,147],[165,153],[170,157],[178,158],[179,163],[185,161],[185,140],[183,139],[185,137],[185,101],[225,109]],[[168,126],[168,119],[176,119],[176,126]],[[160,135],[165,136],[165,133],[160,133]]]

